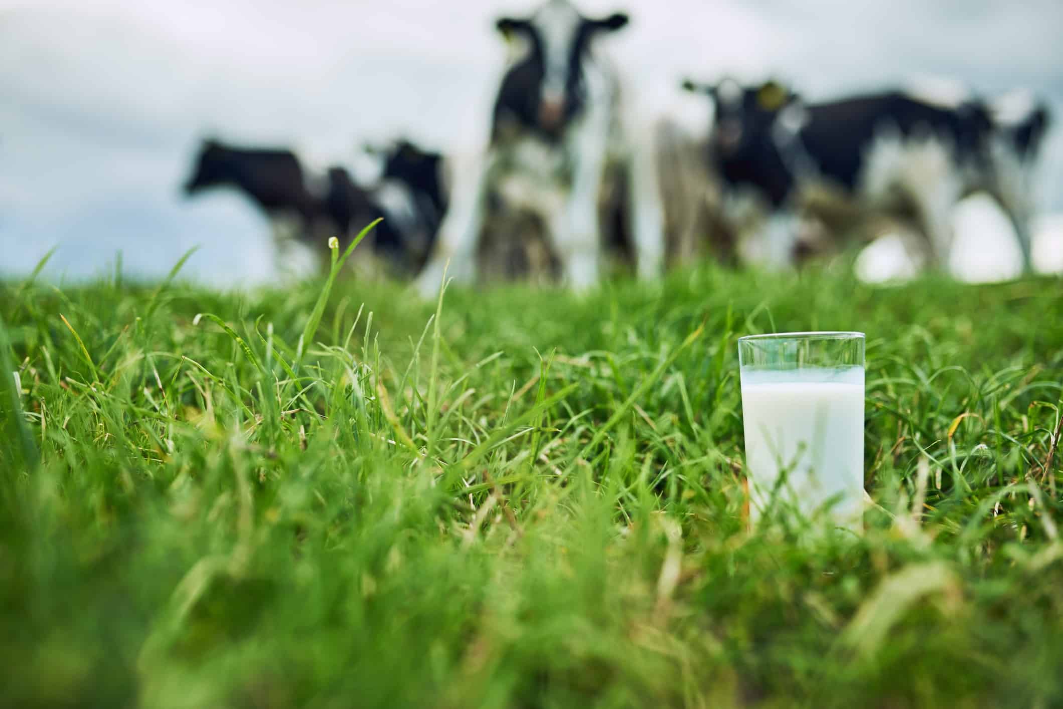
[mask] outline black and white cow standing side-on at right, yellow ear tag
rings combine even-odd
[[[754,193],[794,248],[802,201],[841,193],[868,213],[910,216],[941,263],[956,203],[997,183],[996,126],[977,101],[941,105],[890,91],[806,106],[776,82],[685,87],[713,100],[711,159],[726,187]],[[1029,240],[1019,240],[1029,267]]]

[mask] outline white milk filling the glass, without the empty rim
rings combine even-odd
[[[771,502],[859,531],[863,507],[863,367],[742,371],[742,417],[754,521]],[[778,504],[778,503],[777,503]]]

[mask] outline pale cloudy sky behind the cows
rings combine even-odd
[[[220,286],[275,277],[266,220],[226,190],[186,200],[205,136],[288,146],[358,168],[400,135],[476,150],[506,56],[505,0],[0,0],[0,275],[114,268]],[[624,10],[607,40],[647,116],[708,120],[686,75],[790,82],[810,100],[948,78],[1032,89],[1063,123],[1059,0],[587,0]],[[1045,210],[1063,212],[1063,130],[1045,147]]]

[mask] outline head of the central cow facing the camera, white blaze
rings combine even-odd
[[[557,136],[583,106],[584,62],[595,37],[628,22],[615,13],[605,18],[585,17],[568,0],[549,0],[529,18],[502,17],[496,27],[506,37],[520,37],[527,54],[514,67],[519,85],[503,88],[519,115],[516,118],[549,136]]]

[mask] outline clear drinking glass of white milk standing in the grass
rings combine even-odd
[[[752,335],[738,355],[750,520],[774,505],[861,531],[863,333]]]

